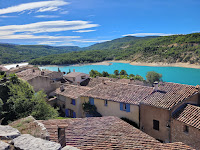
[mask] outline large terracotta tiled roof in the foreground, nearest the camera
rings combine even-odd
[[[191,149],[182,143],[162,144],[117,117],[40,121],[58,142],[58,126],[65,125],[66,145],[79,149]]]

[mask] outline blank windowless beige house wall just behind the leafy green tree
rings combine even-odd
[[[36,92],[43,90],[47,95],[52,91],[60,87],[60,82],[54,82],[50,80],[49,77],[38,76],[31,80],[28,80],[28,83],[33,86]]]

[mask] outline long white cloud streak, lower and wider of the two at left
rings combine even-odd
[[[45,21],[24,25],[8,25],[0,26],[0,32],[15,33],[44,33],[44,32],[60,32],[69,30],[80,30],[99,26],[98,24],[91,24],[88,21]],[[2,37],[0,37],[2,38]]]

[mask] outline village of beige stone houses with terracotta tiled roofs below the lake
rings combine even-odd
[[[155,82],[152,87],[137,80],[92,78],[76,70],[65,74],[31,65],[0,70],[15,73],[36,92],[43,90],[47,103],[66,117],[28,117],[26,130],[39,130],[37,140],[60,144],[52,149],[200,149],[199,85]],[[26,136],[9,138],[23,149],[19,140],[32,143]]]

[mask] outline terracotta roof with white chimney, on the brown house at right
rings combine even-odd
[[[159,85],[159,91],[150,94],[142,103],[171,109],[197,92],[198,89],[195,86],[165,82]]]

